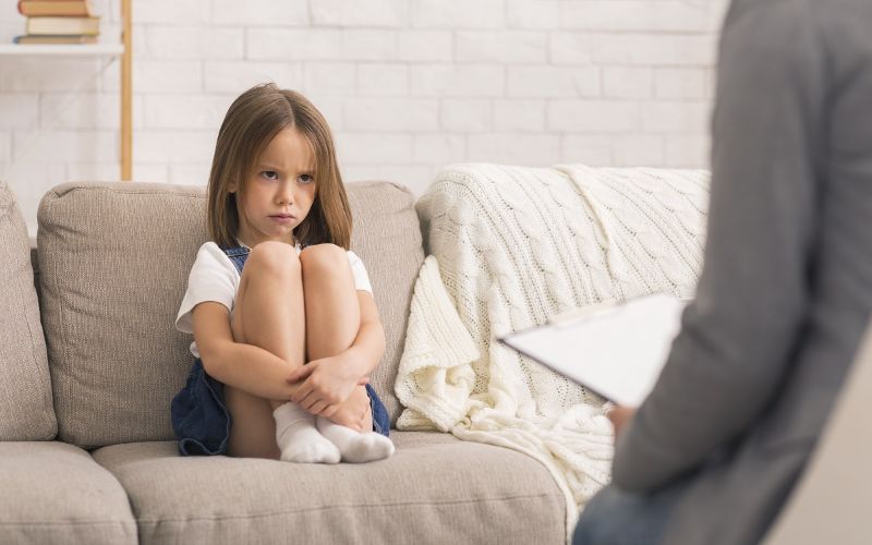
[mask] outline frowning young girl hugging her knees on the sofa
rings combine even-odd
[[[218,133],[201,246],[175,327],[195,360],[172,401],[182,455],[366,462],[389,457],[366,376],[385,336],[320,112],[274,84]],[[383,435],[384,434],[384,435]]]

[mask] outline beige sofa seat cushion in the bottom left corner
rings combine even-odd
[[[119,482],[59,441],[0,443],[0,543],[136,543]]]

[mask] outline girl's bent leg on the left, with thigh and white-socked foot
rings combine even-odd
[[[302,270],[293,246],[265,242],[252,251],[240,280],[231,328],[237,342],[257,346],[288,362],[289,373],[303,364],[305,314]],[[282,456],[298,458],[294,461],[338,461],[332,449],[325,452],[325,441],[320,437],[312,437],[312,433],[317,432],[312,426],[312,419],[302,409],[282,401],[258,398],[229,386],[225,387],[225,397],[233,419],[228,441],[230,456],[272,459]],[[283,411],[280,431],[312,428],[307,436],[296,436],[296,439],[302,437],[304,440],[296,440],[296,450],[290,455],[287,445],[290,435],[286,434],[284,451],[280,450],[276,439],[274,410],[284,404],[288,407],[280,409]],[[289,419],[293,420],[295,428],[288,428]],[[305,420],[310,421],[308,424]],[[323,459],[325,456],[326,460]]]

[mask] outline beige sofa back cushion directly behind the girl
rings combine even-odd
[[[352,249],[367,266],[387,336],[372,384],[392,421],[393,379],[423,262],[412,195],[349,184]],[[173,438],[170,400],[192,364],[173,324],[207,240],[205,187],[71,183],[39,206],[43,324],[61,439],[85,448]]]

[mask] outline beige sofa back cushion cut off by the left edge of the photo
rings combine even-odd
[[[51,439],[58,424],[27,228],[4,182],[0,182],[0,440]]]

